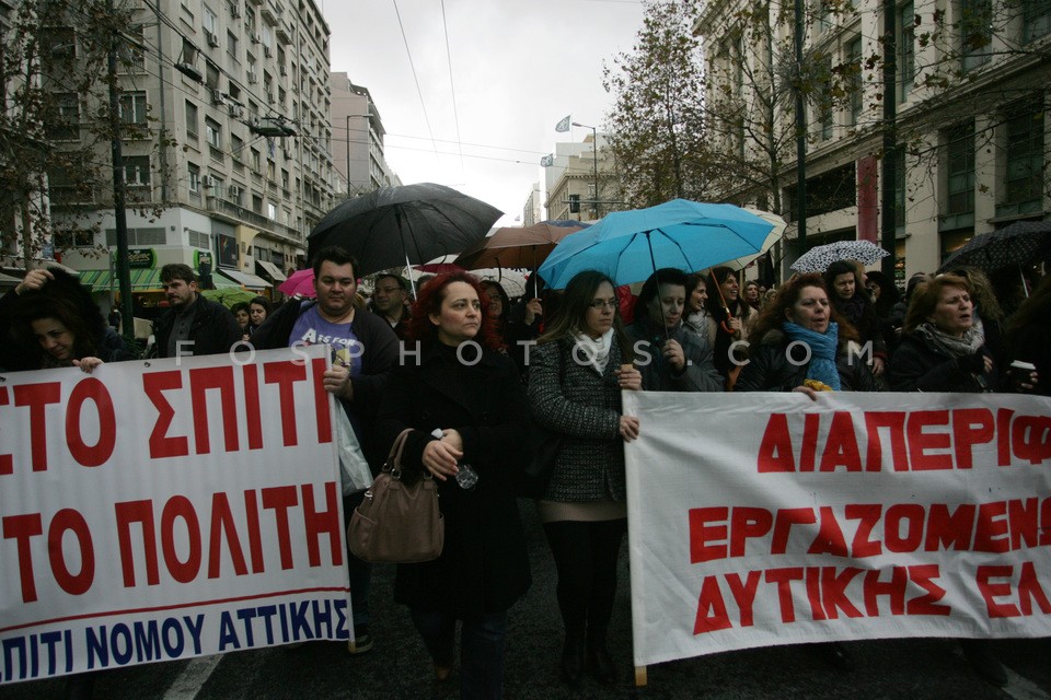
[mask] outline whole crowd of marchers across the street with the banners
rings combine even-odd
[[[463,697],[503,695],[507,611],[529,588],[518,485],[531,431],[561,436],[535,500],[557,568],[564,622],[562,679],[613,684],[622,668],[608,645],[616,570],[627,527],[624,443],[646,425],[624,415],[623,390],[1030,392],[1051,395],[1051,276],[1025,301],[993,292],[977,269],[914,276],[905,294],[878,273],[834,262],[776,289],[742,288],[738,272],[655,271],[637,296],[598,271],[565,290],[512,301],[499,282],[466,272],[413,287],[382,273],[371,303],[354,257],[338,247],[312,260],[316,298],[272,308],[258,298],[233,312],[200,294],[185,265],[168,265],[170,304],[154,326],[154,357],[218,354],[325,342],[334,362],[323,385],[346,411],[373,472],[411,429],[406,477],[439,483],[444,548],[400,564],[395,599],[408,606],[436,682],[459,667]],[[414,298],[415,296],[415,298]],[[0,299],[0,370],[79,366],[137,357],[103,318],[89,290],[61,270],[37,269]],[[403,345],[405,343],[405,345]],[[470,351],[464,351],[466,345]],[[406,345],[413,361],[402,361]],[[470,361],[464,361],[470,358]],[[477,482],[455,478],[470,465]],[[365,492],[344,494],[344,513]],[[348,553],[351,653],[373,644],[371,567]],[[1005,672],[982,640],[962,642],[986,680]],[[838,643],[813,653],[839,668]],[[625,651],[625,650],[617,650]],[[70,697],[90,697],[74,676]]]

